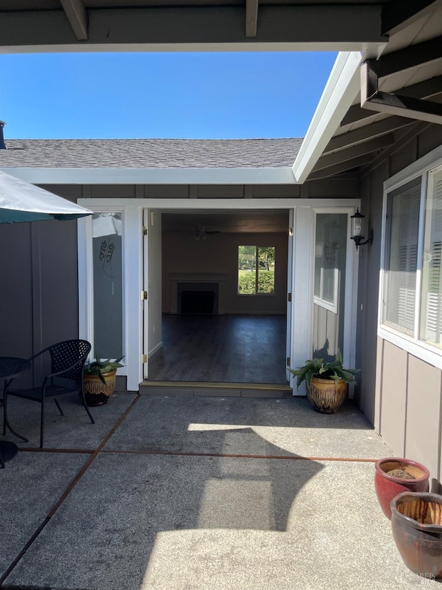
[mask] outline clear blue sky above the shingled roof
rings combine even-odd
[[[336,53],[1,55],[15,138],[302,137]]]

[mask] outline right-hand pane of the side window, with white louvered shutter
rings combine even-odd
[[[421,340],[442,346],[442,169],[428,173],[423,239]]]

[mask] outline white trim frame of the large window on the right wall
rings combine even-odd
[[[421,275],[422,275],[422,247],[423,247],[423,229],[425,223],[425,198],[427,192],[427,174],[430,170],[442,165],[442,146],[430,151],[428,154],[419,158],[416,162],[407,166],[401,172],[394,174],[383,184],[383,210],[382,210],[382,237],[381,237],[381,264],[379,276],[379,299],[378,299],[378,336],[387,342],[391,342],[396,347],[405,350],[416,358],[433,365],[437,369],[442,369],[442,350],[437,349],[431,344],[419,340],[419,330],[421,321]],[[385,273],[383,270],[383,261],[385,260],[385,236],[387,230],[387,194],[413,181],[419,176],[422,177],[421,184],[421,208],[419,219],[419,244],[418,244],[418,264],[416,268],[416,315],[414,319],[414,336],[396,331],[383,324],[383,300],[385,289]],[[425,192],[424,192],[425,191]]]

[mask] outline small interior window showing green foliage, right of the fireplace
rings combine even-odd
[[[275,292],[275,247],[238,246],[238,294]]]

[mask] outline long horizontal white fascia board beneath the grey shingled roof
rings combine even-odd
[[[0,168],[32,184],[88,185],[291,185],[280,168]]]

